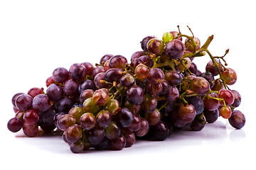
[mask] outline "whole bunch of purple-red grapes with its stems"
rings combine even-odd
[[[191,30],[188,27],[189,30]],[[98,64],[58,67],[43,88],[29,89],[11,99],[16,115],[7,123],[11,132],[28,137],[59,132],[74,153],[131,147],[137,139],[165,140],[174,130],[202,130],[219,117],[240,129],[245,115],[236,110],[235,70],[224,57],[213,57],[208,45],[178,31],[163,37],[146,36],[142,51],[131,62],[122,55],[104,55]],[[185,40],[184,40],[185,39]],[[195,57],[210,57],[205,72]]]

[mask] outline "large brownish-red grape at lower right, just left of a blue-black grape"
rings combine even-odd
[[[190,123],[196,117],[196,109],[191,104],[186,106],[181,105],[181,107],[178,108],[178,116],[183,122]]]

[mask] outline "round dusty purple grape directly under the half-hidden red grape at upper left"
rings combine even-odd
[[[50,98],[50,101],[58,101],[63,98],[63,86],[58,84],[50,84],[46,90],[46,95]]]

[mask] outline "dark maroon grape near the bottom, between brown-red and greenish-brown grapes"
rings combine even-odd
[[[97,145],[104,140],[105,132],[102,128],[93,128],[86,131],[86,137],[92,145]]]

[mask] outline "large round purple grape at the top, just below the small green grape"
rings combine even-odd
[[[185,45],[181,40],[171,40],[166,44],[165,52],[172,59],[181,58],[185,52]]]

